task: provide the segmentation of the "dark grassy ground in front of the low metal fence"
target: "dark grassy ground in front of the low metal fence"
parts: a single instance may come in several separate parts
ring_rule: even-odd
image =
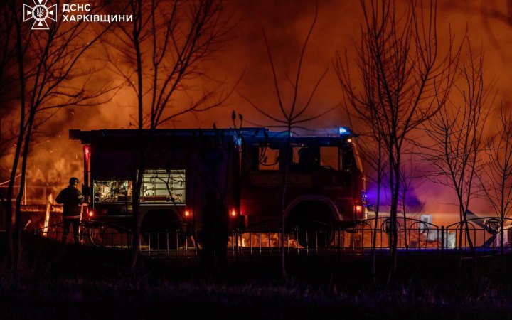
[[[0,235],[1,236],[1,235]],[[1,239],[4,245],[4,239]],[[5,252],[2,260],[5,260]],[[510,319],[512,257],[400,257],[385,289],[361,257],[230,260],[204,277],[198,260],[142,260],[118,250],[28,237],[21,277],[0,279],[0,319]]]

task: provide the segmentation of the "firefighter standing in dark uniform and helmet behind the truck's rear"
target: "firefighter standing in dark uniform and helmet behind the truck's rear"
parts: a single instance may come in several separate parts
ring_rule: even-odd
[[[70,225],[73,225],[73,240],[75,240],[75,243],[80,242],[78,228],[80,228],[80,213],[82,209],[81,204],[84,202],[84,197],[77,188],[78,182],[78,178],[70,178],[70,184],[68,188],[64,188],[62,191],[60,191],[57,198],[55,198],[55,201],[57,201],[57,203],[61,203],[64,205],[64,232],[62,239],[63,243],[65,243],[66,240],[68,240]]]

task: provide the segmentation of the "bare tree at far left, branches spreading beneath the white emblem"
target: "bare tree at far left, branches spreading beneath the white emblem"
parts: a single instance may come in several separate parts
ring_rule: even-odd
[[[11,253],[11,267],[16,275],[21,259],[21,205],[25,186],[27,160],[30,155],[31,139],[38,127],[44,124],[58,110],[70,106],[90,106],[104,102],[102,95],[109,87],[93,90],[90,77],[93,68],[80,65],[80,58],[85,55],[96,41],[107,30],[91,33],[87,23],[63,23],[56,21],[50,24],[48,32],[31,30],[31,23],[23,23],[18,1],[11,0],[7,4],[9,15],[13,21],[14,64],[17,72],[14,75],[19,91],[16,92],[16,109],[19,112],[18,135],[16,150],[11,166],[9,185],[6,191],[6,229],[8,246]],[[98,7],[97,10],[100,10]],[[86,38],[87,35],[87,38]],[[16,194],[16,210],[12,228],[11,215],[13,210],[14,183],[17,172],[20,172],[20,186]],[[14,241],[13,231],[16,231]]]

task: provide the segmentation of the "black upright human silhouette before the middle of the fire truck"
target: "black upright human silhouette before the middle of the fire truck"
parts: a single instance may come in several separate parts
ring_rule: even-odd
[[[206,192],[201,220],[201,264],[206,273],[217,274],[227,263],[229,215],[213,191]]]

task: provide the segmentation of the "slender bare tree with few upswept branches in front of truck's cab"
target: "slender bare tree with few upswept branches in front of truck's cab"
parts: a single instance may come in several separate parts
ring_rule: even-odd
[[[325,110],[323,112],[319,112],[318,114],[314,115],[308,115],[306,111],[309,110],[309,107],[311,106],[311,102],[314,98],[316,90],[318,90],[319,85],[321,84],[321,81],[324,79],[328,69],[324,70],[324,73],[321,74],[318,80],[316,80],[316,83],[311,90],[311,93],[309,94],[306,102],[304,105],[299,105],[299,85],[301,80],[301,73],[304,63],[304,55],[306,53],[306,48],[309,43],[309,38],[311,37],[311,33],[313,33],[314,26],[316,23],[316,18],[318,17],[318,4],[316,4],[315,7],[315,15],[313,22],[311,23],[311,26],[309,27],[309,31],[306,36],[306,40],[304,41],[304,44],[302,45],[302,50],[299,57],[299,62],[297,65],[296,75],[294,80],[287,79],[289,82],[289,85],[292,87],[292,99],[291,103],[289,105],[285,105],[284,97],[282,93],[282,89],[279,85],[279,80],[277,76],[277,69],[274,65],[274,60],[272,58],[272,50],[270,48],[270,43],[267,38],[267,34],[265,33],[265,30],[263,31],[263,37],[265,38],[265,46],[267,48],[267,55],[270,62],[270,68],[272,69],[272,77],[274,80],[274,89],[276,90],[276,97],[277,97],[277,105],[279,106],[280,114],[274,115],[270,112],[265,111],[262,107],[259,107],[254,102],[252,102],[249,98],[247,98],[245,95],[240,94],[245,101],[247,101],[252,107],[255,108],[258,112],[263,114],[267,119],[271,120],[275,124],[270,126],[277,129],[281,129],[286,134],[286,147],[285,147],[285,154],[284,154],[284,171],[283,171],[283,181],[282,181],[282,198],[281,198],[281,209],[282,209],[282,245],[284,246],[284,230],[286,230],[286,203],[287,203],[287,188],[288,188],[288,176],[289,176],[289,168],[291,166],[291,160],[292,160],[292,134],[294,130],[297,129],[305,129],[304,124],[307,122],[311,122],[314,119],[318,119],[319,117],[322,117],[324,114],[327,114],[334,110],[336,107],[331,107],[328,110]],[[286,260],[285,260],[285,250],[282,250],[282,276],[287,277],[287,268],[286,268]]]

